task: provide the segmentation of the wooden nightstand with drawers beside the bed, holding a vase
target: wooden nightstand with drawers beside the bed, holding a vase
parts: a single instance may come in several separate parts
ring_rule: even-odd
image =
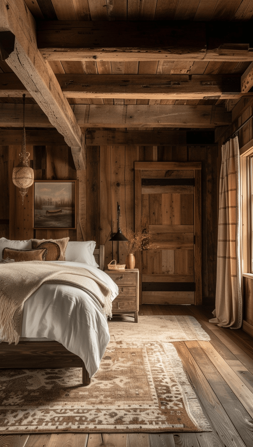
[[[138,323],[139,311],[139,270],[105,270],[119,287],[119,295],[112,301],[112,315],[134,313]]]

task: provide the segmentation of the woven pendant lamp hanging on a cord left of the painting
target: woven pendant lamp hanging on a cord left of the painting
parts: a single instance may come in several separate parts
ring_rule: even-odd
[[[23,94],[23,134],[21,143],[21,152],[19,153],[19,165],[13,168],[12,181],[15,186],[19,188],[22,196],[22,205],[24,204],[24,196],[28,191],[29,186],[32,186],[34,173],[33,169],[28,166],[29,152],[25,148],[25,94]]]

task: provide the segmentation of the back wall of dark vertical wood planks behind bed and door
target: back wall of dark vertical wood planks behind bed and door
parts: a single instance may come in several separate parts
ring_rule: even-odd
[[[12,183],[12,168],[18,164],[20,146],[0,146],[0,236],[10,239],[56,238],[95,240],[105,245],[105,265],[116,258],[117,244],[109,242],[117,231],[117,202],[121,228],[134,229],[134,161],[202,162],[202,284],[203,302],[214,302],[217,245],[217,146],[182,144],[167,146],[88,146],[87,171],[75,171],[67,146],[27,146],[37,180],[78,179],[77,230],[32,228],[32,188],[22,207],[21,195]],[[9,219],[9,225],[8,225]],[[120,262],[127,254],[120,243]],[[205,299],[207,298],[207,299]]]

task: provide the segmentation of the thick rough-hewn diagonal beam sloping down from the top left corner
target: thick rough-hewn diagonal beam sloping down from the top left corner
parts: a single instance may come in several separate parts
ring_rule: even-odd
[[[22,0],[0,0],[1,57],[71,147],[76,169],[85,169],[85,141],[48,62],[37,49],[36,24]],[[6,32],[15,36],[9,49]],[[5,52],[4,52],[5,51]]]

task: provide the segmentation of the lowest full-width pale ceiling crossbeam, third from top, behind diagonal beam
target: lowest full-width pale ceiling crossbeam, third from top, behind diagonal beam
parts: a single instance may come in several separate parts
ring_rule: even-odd
[[[80,127],[200,127],[231,123],[231,113],[215,105],[71,106]],[[21,104],[0,104],[0,127],[22,126]],[[38,105],[26,106],[27,127],[52,127]]]

